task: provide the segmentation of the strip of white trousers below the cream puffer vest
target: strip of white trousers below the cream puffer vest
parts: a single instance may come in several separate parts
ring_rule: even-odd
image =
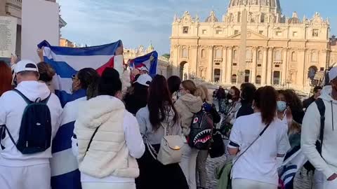
[[[82,189],[136,189],[135,183],[81,183]]]

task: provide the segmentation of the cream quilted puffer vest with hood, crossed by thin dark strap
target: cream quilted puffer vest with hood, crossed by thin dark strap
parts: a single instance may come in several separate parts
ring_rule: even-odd
[[[126,146],[124,113],[123,102],[114,97],[98,96],[81,104],[75,133],[79,147],[79,170],[82,173],[95,178],[139,176],[136,159],[129,155]],[[97,127],[98,132],[86,152]]]

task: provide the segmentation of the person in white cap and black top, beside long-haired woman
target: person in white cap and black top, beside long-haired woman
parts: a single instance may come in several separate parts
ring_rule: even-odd
[[[137,77],[137,80],[133,83],[131,89],[124,97],[126,110],[128,110],[128,112],[136,115],[141,108],[146,106],[147,93],[151,81],[151,76],[147,74],[139,75]]]

